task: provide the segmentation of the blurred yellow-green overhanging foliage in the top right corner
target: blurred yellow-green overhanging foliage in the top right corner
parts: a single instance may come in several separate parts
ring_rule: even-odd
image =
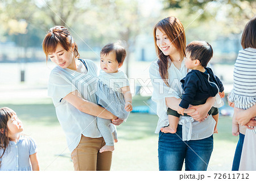
[[[245,23],[256,14],[255,0],[162,0],[165,9],[185,9],[185,15],[200,14],[196,19],[215,19],[225,34],[240,33]]]

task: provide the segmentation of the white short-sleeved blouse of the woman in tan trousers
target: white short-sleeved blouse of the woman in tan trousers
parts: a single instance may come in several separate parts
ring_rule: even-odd
[[[71,69],[56,66],[49,75],[48,95],[56,108],[57,119],[66,135],[69,150],[72,152],[79,145],[81,134],[86,137],[102,137],[97,128],[97,117],[79,111],[63,98],[77,90],[82,98],[97,104],[96,83],[97,66],[91,60],[84,60],[87,73],[79,73]],[[84,66],[79,60],[79,66]],[[86,72],[86,70],[85,70]],[[110,124],[112,132],[115,130]]]

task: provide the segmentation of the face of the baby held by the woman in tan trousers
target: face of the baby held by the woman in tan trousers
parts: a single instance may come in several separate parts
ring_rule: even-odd
[[[105,73],[117,73],[122,65],[117,62],[115,52],[111,51],[109,54],[101,54],[101,69]]]

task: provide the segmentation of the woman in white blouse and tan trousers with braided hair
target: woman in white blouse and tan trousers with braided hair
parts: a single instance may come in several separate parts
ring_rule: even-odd
[[[48,95],[66,135],[75,170],[110,170],[112,151],[99,153],[105,141],[98,131],[97,117],[113,119],[115,125],[123,120],[97,105],[96,65],[79,58],[77,45],[63,26],[49,30],[43,50],[57,65],[49,76]],[[110,129],[114,132],[114,125],[110,124]]]

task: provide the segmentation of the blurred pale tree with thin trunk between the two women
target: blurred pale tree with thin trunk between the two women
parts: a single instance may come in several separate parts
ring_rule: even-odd
[[[101,47],[117,40],[125,41],[126,74],[129,76],[131,52],[134,51],[137,36],[145,32],[150,32],[151,36],[158,15],[154,11],[143,14],[144,4],[137,0],[97,1],[95,5],[90,9],[90,19],[84,19],[84,23],[93,30],[89,34],[100,41]]]

